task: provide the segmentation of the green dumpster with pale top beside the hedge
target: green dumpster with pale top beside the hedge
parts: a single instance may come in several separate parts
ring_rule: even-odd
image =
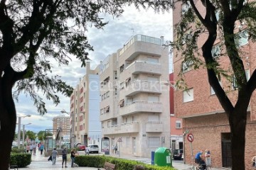
[[[171,150],[166,147],[159,147],[154,154],[154,164],[157,166],[172,166]]]

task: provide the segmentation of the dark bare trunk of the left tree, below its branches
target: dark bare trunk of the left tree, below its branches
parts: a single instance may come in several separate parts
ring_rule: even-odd
[[[0,77],[0,170],[9,169],[16,128],[16,110],[11,89],[12,85]]]

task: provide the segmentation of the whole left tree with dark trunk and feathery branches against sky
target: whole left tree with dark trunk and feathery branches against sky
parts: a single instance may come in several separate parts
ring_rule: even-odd
[[[124,1],[24,0],[0,4],[0,169],[8,169],[16,128],[14,98],[31,96],[38,113],[47,112],[38,91],[54,104],[57,93],[70,96],[72,87],[51,72],[51,61],[68,65],[70,55],[85,66],[87,26],[102,28],[100,12],[119,16]],[[13,91],[14,89],[14,91]]]

